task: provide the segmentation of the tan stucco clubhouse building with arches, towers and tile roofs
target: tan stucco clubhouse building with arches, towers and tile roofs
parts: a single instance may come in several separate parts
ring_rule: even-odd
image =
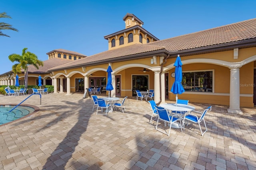
[[[175,100],[170,89],[173,64],[180,55],[185,89],[180,99],[228,105],[229,113],[256,104],[256,18],[163,40],[142,28],[144,23],[133,14],[123,20],[123,30],[104,36],[108,51],[87,57],[53,50],[41,71],[30,66],[28,84],[36,84],[40,74],[44,84],[54,85],[54,92],[69,95],[91,86],[104,90],[110,65],[111,96],[129,97],[136,95],[136,89],[154,89],[156,103],[165,102]],[[0,75],[0,85],[14,81],[11,71]]]

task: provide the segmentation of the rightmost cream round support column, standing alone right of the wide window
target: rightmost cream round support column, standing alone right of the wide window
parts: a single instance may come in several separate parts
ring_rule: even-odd
[[[228,113],[242,114],[240,110],[240,69],[230,68],[230,96]]]

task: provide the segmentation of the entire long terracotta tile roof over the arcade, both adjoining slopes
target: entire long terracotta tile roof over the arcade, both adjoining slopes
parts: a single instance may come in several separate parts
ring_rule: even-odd
[[[102,53],[72,61],[70,63],[63,65],[59,64],[59,66],[49,70],[78,67],[83,64],[97,63],[108,59],[118,59],[120,57],[128,57],[136,54],[159,51],[163,49],[168,51],[182,51],[200,47],[208,47],[212,45],[221,45],[247,39],[255,39],[256,41],[256,18],[207,29],[204,31],[198,31],[196,33],[154,41],[152,43],[134,44],[126,47],[120,47],[114,50],[104,51]]]

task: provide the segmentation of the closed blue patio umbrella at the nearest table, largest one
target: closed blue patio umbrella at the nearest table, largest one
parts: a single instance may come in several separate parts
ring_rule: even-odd
[[[171,92],[173,94],[176,94],[176,105],[177,105],[177,101],[178,101],[178,94],[182,94],[183,92],[185,92],[181,82],[182,82],[182,62],[180,60],[180,55],[178,55],[175,63],[175,80],[174,83],[172,85],[172,89]]]

